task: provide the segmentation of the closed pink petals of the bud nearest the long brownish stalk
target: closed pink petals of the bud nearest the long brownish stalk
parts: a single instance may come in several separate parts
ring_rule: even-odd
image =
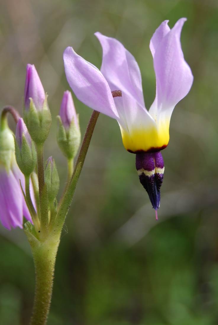
[[[69,129],[72,120],[74,120],[75,125],[79,127],[78,117],[73,103],[73,98],[71,92],[68,90],[64,92],[59,115],[61,117],[61,121],[65,129]]]

